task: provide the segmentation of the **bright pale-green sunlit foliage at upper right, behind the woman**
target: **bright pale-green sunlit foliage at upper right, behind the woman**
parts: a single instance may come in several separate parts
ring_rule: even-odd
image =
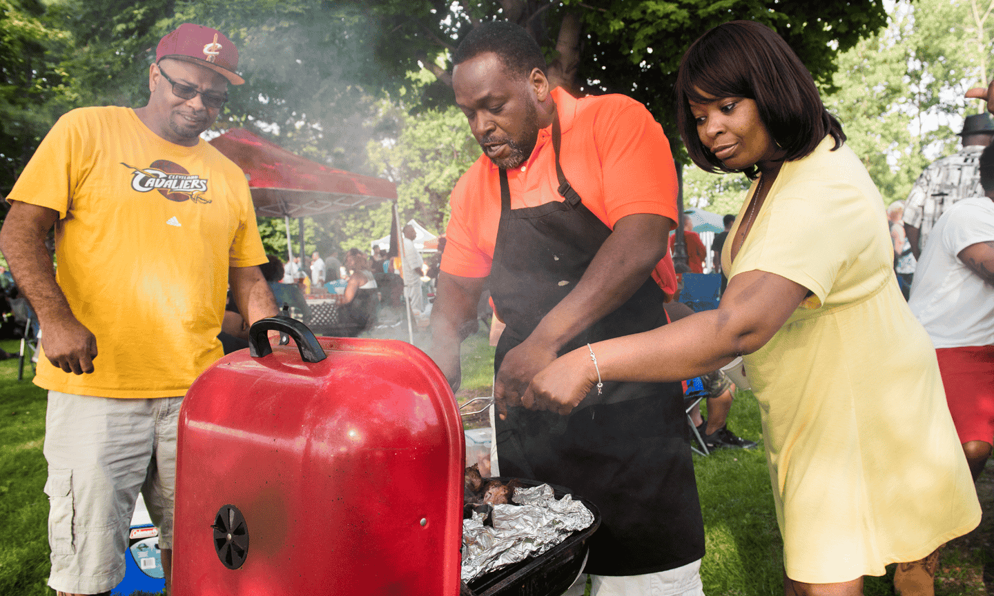
[[[949,123],[981,80],[968,13],[968,0],[901,2],[885,30],[839,56],[838,90],[825,104],[887,203],[905,199],[929,162],[958,149]]]

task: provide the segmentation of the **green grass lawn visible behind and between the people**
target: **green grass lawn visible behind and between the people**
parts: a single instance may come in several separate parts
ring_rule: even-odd
[[[491,383],[493,349],[485,329],[463,345],[464,391],[486,393]],[[16,352],[16,343],[0,342]],[[28,369],[30,375],[30,367]],[[17,361],[0,362],[0,595],[48,596],[48,501],[42,493],[46,465],[42,456],[45,392],[29,381],[17,381]],[[741,391],[729,426],[747,439],[760,441],[759,407]],[[779,595],[782,588],[782,543],[776,527],[769,474],[761,449],[717,451],[694,456],[707,555],[701,566],[705,593]],[[938,596],[986,594],[985,561],[991,565],[990,530],[994,464],[981,478],[985,522],[981,529],[945,547],[937,574]],[[985,558],[986,557],[986,558]],[[893,595],[890,576],[867,578],[868,596]]]

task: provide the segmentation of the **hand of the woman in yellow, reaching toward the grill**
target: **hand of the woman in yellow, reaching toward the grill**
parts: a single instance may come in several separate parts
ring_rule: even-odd
[[[535,375],[521,398],[528,409],[567,415],[597,384],[597,371],[586,346],[555,361]]]

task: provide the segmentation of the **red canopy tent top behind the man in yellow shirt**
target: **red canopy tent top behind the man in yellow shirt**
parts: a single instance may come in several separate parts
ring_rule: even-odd
[[[304,218],[397,199],[389,180],[335,170],[234,128],[210,141],[248,178],[255,214]]]

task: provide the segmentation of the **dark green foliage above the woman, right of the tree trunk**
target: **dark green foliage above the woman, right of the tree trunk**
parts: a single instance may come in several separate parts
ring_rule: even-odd
[[[885,24],[882,0],[564,0],[582,14],[582,90],[618,92],[642,101],[676,138],[673,89],[680,60],[694,40],[721,23],[768,25],[797,52],[815,79],[830,86],[835,58]],[[682,145],[674,143],[675,152]]]

